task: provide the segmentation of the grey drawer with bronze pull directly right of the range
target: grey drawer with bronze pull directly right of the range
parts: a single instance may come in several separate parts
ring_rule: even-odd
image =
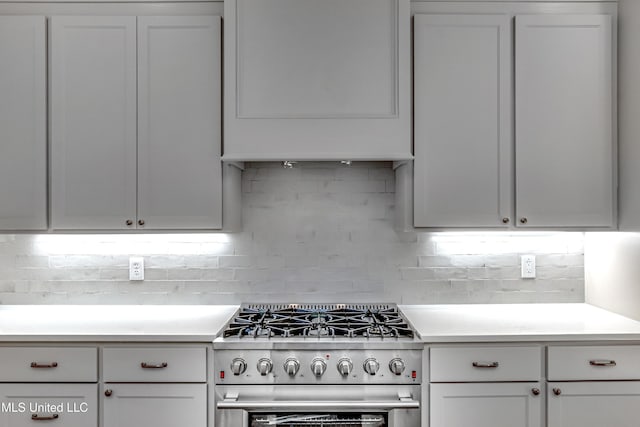
[[[431,382],[538,381],[542,349],[527,347],[436,347]]]

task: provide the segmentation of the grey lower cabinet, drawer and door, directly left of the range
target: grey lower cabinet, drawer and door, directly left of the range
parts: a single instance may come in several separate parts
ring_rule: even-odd
[[[207,348],[102,349],[102,427],[206,427]]]

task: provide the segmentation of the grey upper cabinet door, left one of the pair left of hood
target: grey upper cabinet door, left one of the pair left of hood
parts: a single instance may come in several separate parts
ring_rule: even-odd
[[[136,216],[136,18],[51,18],[54,229]],[[132,223],[133,224],[133,223]]]

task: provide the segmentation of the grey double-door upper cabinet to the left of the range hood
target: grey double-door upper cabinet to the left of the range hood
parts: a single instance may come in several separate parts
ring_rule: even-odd
[[[53,229],[222,226],[217,16],[53,17]]]

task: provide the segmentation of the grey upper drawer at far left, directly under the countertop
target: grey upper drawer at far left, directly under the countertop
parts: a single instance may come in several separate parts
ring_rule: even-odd
[[[95,382],[95,347],[0,347],[1,382]]]

